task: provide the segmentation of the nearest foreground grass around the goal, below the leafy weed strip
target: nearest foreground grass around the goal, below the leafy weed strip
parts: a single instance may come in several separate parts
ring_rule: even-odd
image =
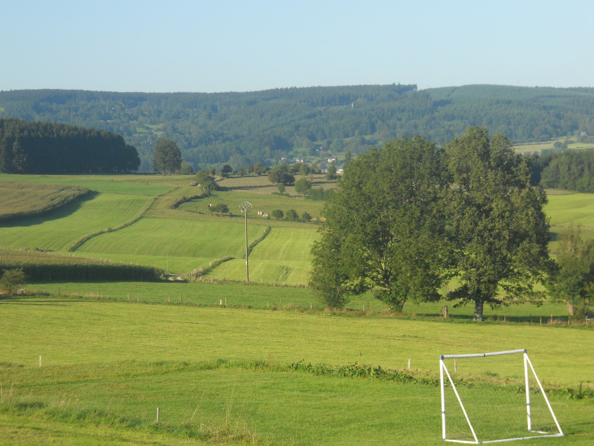
[[[60,416],[68,419],[83,414],[87,418],[80,416],[80,421],[71,423],[71,430],[63,437],[74,442],[77,436],[94,434],[90,438],[101,441],[105,433],[94,432],[93,427],[118,417],[119,423],[112,421],[102,430],[130,444],[138,444],[141,439],[143,444],[187,444],[188,432],[200,432],[200,426],[204,426],[201,430],[210,434],[225,425],[229,425],[229,433],[241,432],[245,426],[255,431],[255,437],[264,444],[442,443],[439,387],[245,369],[224,361],[219,364],[220,368],[216,363],[132,361],[41,368],[12,366],[0,370],[0,380],[18,381],[13,404],[46,407],[15,411],[10,418],[0,418],[0,426],[17,425],[6,432],[14,435],[42,426],[47,419],[57,419],[48,426],[49,432],[38,432],[37,438],[58,436],[55,430],[65,429]],[[555,440],[555,444],[585,445],[592,441],[591,401],[553,396],[551,403],[569,434]],[[156,407],[160,409],[158,427],[154,423]],[[147,438],[147,432],[154,434]],[[159,435],[162,432],[169,435]],[[0,427],[0,436],[3,434]],[[194,439],[190,442],[203,444]],[[228,438],[214,442],[227,444]],[[550,440],[534,439],[530,444],[550,444]]]

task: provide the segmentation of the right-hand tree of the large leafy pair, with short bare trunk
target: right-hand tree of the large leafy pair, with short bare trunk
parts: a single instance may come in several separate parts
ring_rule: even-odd
[[[548,256],[546,194],[530,186],[531,172],[511,141],[469,127],[445,147],[451,199],[445,209],[454,241],[459,287],[447,297],[472,302],[476,321],[484,304],[539,303],[534,285],[554,268]]]

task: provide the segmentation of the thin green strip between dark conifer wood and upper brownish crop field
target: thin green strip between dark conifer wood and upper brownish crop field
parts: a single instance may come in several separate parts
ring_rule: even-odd
[[[0,174],[0,180],[18,180],[31,181],[37,183],[53,183],[53,184],[74,184],[75,186],[84,186],[87,189],[103,193],[121,193],[132,195],[150,195],[166,193],[173,189],[173,186],[168,184],[149,184],[146,183],[132,183],[131,181],[123,181],[135,178],[136,181],[142,177],[134,177],[126,175],[15,175],[15,174]],[[147,178],[147,180],[149,180]]]

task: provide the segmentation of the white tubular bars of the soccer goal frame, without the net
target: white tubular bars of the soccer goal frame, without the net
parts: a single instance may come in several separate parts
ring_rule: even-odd
[[[545,398],[546,406],[548,407],[549,412],[551,412],[551,416],[553,417],[553,420],[555,421],[555,425],[557,426],[557,429],[559,432],[558,432],[558,434],[520,436],[517,438],[504,438],[504,439],[498,439],[498,440],[479,441],[478,437],[475,434],[475,429],[472,427],[472,423],[470,423],[470,419],[468,417],[468,414],[466,413],[464,404],[462,403],[462,400],[460,399],[460,395],[458,394],[456,385],[454,384],[454,380],[451,379],[450,372],[448,372],[448,369],[445,366],[445,363],[443,360],[444,359],[457,359],[457,358],[476,358],[476,357],[485,357],[485,356],[499,356],[501,354],[514,354],[514,353],[522,353],[523,359],[524,359],[524,377],[525,377],[525,387],[526,387],[526,413],[527,413],[528,431],[529,432],[538,432],[539,434],[548,434],[547,432],[532,431],[532,419],[531,419],[531,415],[530,415],[530,382],[529,382],[529,371],[528,371],[528,366],[530,366],[530,369],[532,369],[532,374],[534,375],[534,378],[536,379],[536,382],[538,383],[538,387],[540,388],[540,390],[542,392],[542,396]],[[456,394],[458,403],[460,404],[460,407],[462,408],[462,412],[464,413],[464,416],[466,417],[466,422],[468,423],[468,426],[470,428],[470,431],[472,432],[472,436],[475,438],[475,441],[456,440],[456,439],[445,438],[447,433],[446,433],[446,429],[445,429],[444,371],[445,371],[445,375],[447,375],[448,381],[450,381],[452,389],[454,390],[454,394]],[[547,437],[564,436],[563,431],[561,430],[561,426],[559,425],[559,422],[557,421],[557,417],[555,416],[555,413],[553,412],[553,409],[551,407],[551,403],[549,403],[549,398],[546,397],[546,393],[545,393],[544,388],[542,387],[541,380],[538,378],[538,375],[536,375],[536,370],[532,366],[532,362],[530,362],[530,358],[528,357],[528,354],[526,353],[526,348],[522,348],[520,350],[494,351],[492,353],[442,354],[442,355],[440,355],[440,384],[441,384],[441,434],[442,434],[442,438],[444,439],[444,441],[451,441],[454,443],[466,443],[466,444],[486,444],[486,443],[500,443],[500,442],[504,442],[504,441],[527,440],[527,439],[532,439],[532,438],[547,438]]]

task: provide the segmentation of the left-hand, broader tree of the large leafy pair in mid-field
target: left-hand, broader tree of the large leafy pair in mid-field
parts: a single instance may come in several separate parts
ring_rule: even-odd
[[[449,278],[440,149],[424,137],[387,142],[349,162],[324,206],[310,284],[331,307],[372,291],[391,310],[439,300]]]

